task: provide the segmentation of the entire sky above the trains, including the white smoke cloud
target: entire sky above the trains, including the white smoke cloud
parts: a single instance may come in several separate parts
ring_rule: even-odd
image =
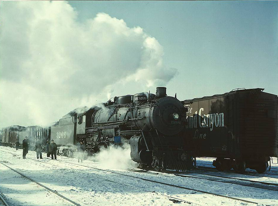
[[[0,1],[0,128],[166,86],[278,94],[277,1]]]

